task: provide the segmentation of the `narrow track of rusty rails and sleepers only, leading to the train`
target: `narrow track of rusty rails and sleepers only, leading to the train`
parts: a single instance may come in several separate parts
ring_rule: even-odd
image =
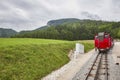
[[[99,53],[89,69],[85,80],[108,80],[107,54]]]

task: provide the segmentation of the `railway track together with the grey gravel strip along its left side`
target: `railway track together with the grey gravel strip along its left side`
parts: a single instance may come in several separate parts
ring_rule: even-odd
[[[92,64],[76,74],[72,80],[109,80],[108,54],[98,53],[93,58]]]

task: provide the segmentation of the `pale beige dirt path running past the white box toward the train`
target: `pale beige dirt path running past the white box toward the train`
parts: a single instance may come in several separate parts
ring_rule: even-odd
[[[87,54],[80,54],[75,60],[74,66],[70,67],[63,75],[59,76],[57,80],[72,80],[75,74],[81,69],[81,67],[88,61],[92,56],[94,50]]]

